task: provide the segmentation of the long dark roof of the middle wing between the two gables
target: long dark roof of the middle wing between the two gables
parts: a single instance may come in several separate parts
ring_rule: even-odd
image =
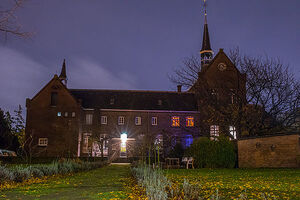
[[[84,108],[197,111],[192,93],[142,90],[69,89]]]

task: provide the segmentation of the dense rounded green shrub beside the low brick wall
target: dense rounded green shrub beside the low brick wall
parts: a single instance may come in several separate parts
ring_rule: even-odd
[[[226,137],[219,137],[218,140],[199,138],[186,154],[195,159],[198,168],[233,168],[236,162],[235,146]]]

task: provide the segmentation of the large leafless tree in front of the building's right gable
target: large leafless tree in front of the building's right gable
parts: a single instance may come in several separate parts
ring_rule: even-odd
[[[240,72],[247,75],[246,99],[242,91],[220,84],[222,88],[216,92],[207,86],[206,80],[198,80],[201,64],[196,57],[186,58],[170,80],[187,88],[198,81],[196,94],[203,106],[199,107],[203,108],[205,122],[233,124],[240,133],[250,135],[290,129],[300,107],[300,81],[289,66],[280,59],[242,55],[238,48],[231,50],[229,57]],[[230,93],[235,97],[234,104],[216,99]]]

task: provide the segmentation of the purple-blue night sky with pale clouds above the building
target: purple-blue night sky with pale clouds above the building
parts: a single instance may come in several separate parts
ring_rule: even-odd
[[[25,105],[66,59],[69,88],[175,90],[168,79],[199,56],[201,0],[27,0],[31,39],[0,38],[0,107]],[[300,77],[299,0],[208,0],[212,48],[279,57]]]

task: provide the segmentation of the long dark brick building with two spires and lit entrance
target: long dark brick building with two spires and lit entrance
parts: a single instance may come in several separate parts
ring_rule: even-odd
[[[70,89],[64,61],[61,74],[26,100],[28,148],[33,156],[105,156],[113,160],[139,156],[149,142],[159,143],[166,152],[178,142],[186,148],[197,137],[218,136],[218,124],[203,128],[197,86],[207,80],[214,92],[220,85],[244,91],[245,75],[223,49],[213,56],[206,15],[200,56],[198,81],[188,91],[181,91],[181,86],[177,91]],[[231,94],[221,100],[228,99],[233,103]],[[236,129],[230,127],[227,131],[236,139]]]

